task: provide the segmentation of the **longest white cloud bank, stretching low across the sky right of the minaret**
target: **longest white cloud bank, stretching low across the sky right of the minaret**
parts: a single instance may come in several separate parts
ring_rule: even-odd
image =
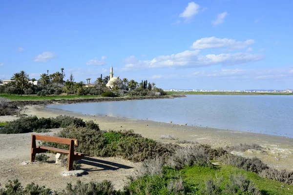
[[[140,60],[131,56],[124,60],[124,70],[140,68],[186,68],[186,67],[203,67],[211,65],[236,65],[254,62],[264,59],[262,54],[249,53],[228,53],[228,54],[209,54],[200,55],[199,50],[184,51],[169,56],[159,56],[152,60]]]

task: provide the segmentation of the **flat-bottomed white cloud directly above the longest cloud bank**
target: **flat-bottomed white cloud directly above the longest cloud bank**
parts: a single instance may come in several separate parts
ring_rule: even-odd
[[[220,39],[216,37],[208,37],[197,39],[193,42],[191,49],[208,49],[208,48],[219,48],[224,47],[230,50],[233,49],[244,49],[249,45],[253,44],[253,39],[247,39],[246,41],[236,41],[235,39]]]

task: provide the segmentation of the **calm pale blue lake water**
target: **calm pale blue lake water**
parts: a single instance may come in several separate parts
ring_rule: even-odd
[[[50,105],[89,115],[293,137],[293,96],[189,95],[186,98]]]

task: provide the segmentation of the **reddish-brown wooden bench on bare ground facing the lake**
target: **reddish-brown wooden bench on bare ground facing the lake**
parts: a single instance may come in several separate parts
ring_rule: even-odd
[[[48,146],[37,146],[36,140],[67,144],[67,145],[69,145],[69,150],[53,148],[53,147],[48,147]],[[74,160],[80,160],[80,159],[83,159],[84,156],[89,156],[84,153],[74,152],[74,146],[78,146],[77,139],[41,136],[41,135],[32,134],[31,162],[35,161],[36,154],[38,154],[38,153],[45,153],[47,151],[55,151],[58,153],[65,153],[65,154],[68,154],[68,158],[67,158],[68,168],[67,168],[67,170],[70,171],[70,170],[72,170],[72,164],[73,164]]]

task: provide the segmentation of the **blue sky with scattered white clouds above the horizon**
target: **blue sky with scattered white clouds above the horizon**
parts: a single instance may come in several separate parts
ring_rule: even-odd
[[[293,1],[2,1],[0,79],[64,68],[163,89],[293,88]]]

